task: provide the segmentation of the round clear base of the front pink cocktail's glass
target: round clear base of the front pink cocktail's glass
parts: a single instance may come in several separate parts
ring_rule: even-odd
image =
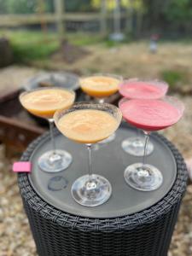
[[[124,172],[125,182],[133,189],[153,191],[163,183],[162,173],[154,166],[143,163],[127,166]]]

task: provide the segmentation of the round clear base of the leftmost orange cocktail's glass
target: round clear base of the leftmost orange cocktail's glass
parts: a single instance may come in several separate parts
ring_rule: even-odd
[[[61,172],[72,163],[72,155],[64,150],[50,150],[38,159],[38,166],[44,172]]]

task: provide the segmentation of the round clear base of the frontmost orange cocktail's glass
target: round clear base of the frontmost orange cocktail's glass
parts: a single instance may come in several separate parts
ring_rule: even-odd
[[[112,194],[108,179],[97,174],[84,175],[76,179],[72,185],[72,196],[75,201],[85,207],[96,207],[108,201]]]

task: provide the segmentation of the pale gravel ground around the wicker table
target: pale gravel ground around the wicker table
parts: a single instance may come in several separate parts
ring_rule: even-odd
[[[16,72],[15,72],[16,71]],[[20,71],[18,67],[4,69],[0,74],[1,82],[8,79],[18,86],[18,81],[31,76],[37,70]],[[13,73],[16,73],[15,79]],[[22,76],[22,79],[19,77]],[[16,82],[15,82],[16,81]],[[185,103],[185,114],[183,119],[172,128],[162,133],[188,159],[192,158],[192,101],[190,96],[182,98]],[[26,215],[23,212],[16,176],[11,172],[14,159],[6,159],[4,147],[0,145],[0,256],[35,256],[36,248],[32,240],[32,234]],[[192,255],[192,185],[190,184],[183,199],[183,204],[177,221],[177,226],[172,237],[172,244],[168,256],[191,256]],[[142,256],[142,255],[141,255]]]

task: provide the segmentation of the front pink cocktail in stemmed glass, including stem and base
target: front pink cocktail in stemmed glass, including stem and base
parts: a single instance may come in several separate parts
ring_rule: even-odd
[[[126,167],[125,182],[137,190],[158,189],[163,183],[162,173],[156,166],[146,164],[149,135],[151,131],[160,131],[176,124],[183,116],[183,103],[171,96],[160,100],[128,100],[124,98],[119,102],[119,108],[125,120],[131,125],[143,129],[145,134],[143,161]]]

